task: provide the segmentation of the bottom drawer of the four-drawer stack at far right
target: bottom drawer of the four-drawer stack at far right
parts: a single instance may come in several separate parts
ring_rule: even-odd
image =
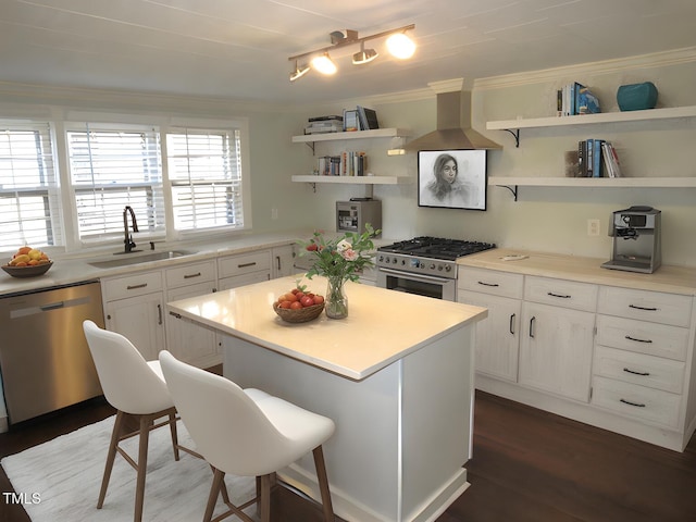
[[[679,425],[681,395],[660,389],[594,377],[592,403],[622,415],[666,426]]]

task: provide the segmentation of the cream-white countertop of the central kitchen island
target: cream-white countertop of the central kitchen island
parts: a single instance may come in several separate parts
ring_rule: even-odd
[[[325,295],[323,277],[302,284]],[[189,320],[356,381],[488,313],[348,282],[348,318],[332,320],[322,312],[307,323],[286,323],[273,311],[273,301],[295,285],[295,276],[282,277],[167,306]]]

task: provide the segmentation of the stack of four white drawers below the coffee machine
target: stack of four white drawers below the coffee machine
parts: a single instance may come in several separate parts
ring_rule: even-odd
[[[592,403],[671,428],[684,423],[688,296],[602,287]]]

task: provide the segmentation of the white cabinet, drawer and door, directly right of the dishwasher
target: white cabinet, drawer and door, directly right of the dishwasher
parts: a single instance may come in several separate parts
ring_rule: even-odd
[[[161,271],[104,278],[101,293],[107,328],[127,337],[145,359],[157,359],[165,344]]]

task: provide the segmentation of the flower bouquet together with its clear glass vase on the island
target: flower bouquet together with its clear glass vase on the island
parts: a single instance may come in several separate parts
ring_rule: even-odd
[[[380,231],[366,223],[365,232],[362,234],[348,232],[343,237],[326,240],[321,232],[315,232],[309,243],[299,241],[300,246],[304,247],[300,256],[314,256],[314,264],[307,272],[307,278],[323,275],[328,279],[324,308],[328,318],[348,316],[348,299],[344,294],[344,283],[358,281],[360,272],[374,264],[372,238],[378,233]]]

